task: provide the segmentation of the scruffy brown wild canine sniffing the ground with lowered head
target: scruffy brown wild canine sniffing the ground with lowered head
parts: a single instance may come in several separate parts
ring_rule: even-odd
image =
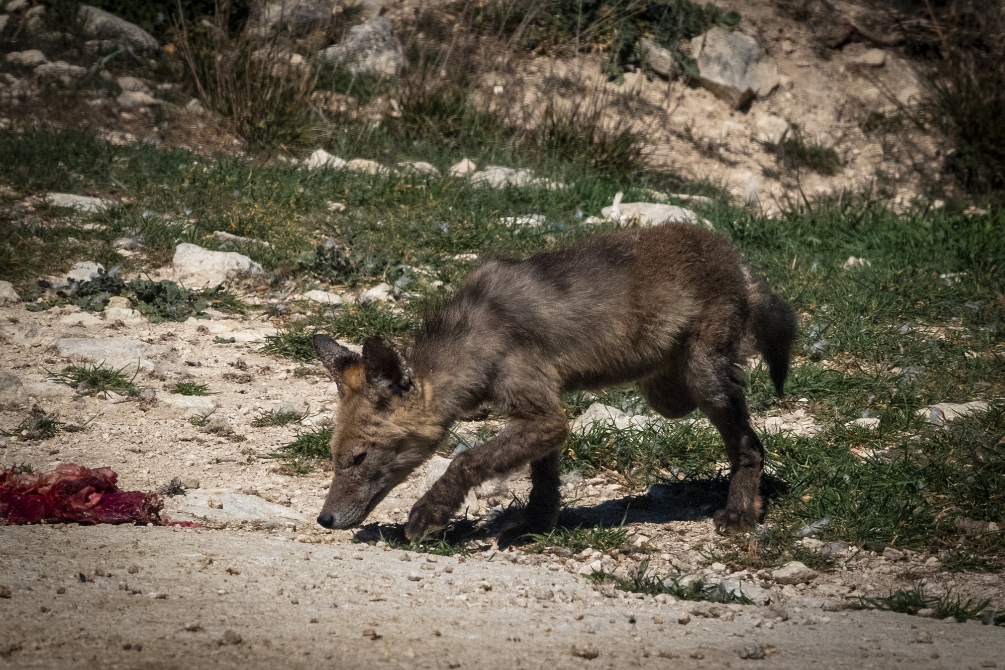
[[[653,409],[700,409],[732,464],[722,531],[760,514],[763,448],[750,427],[740,367],[754,349],[782,393],[796,334],[792,310],[752,278],[723,236],[690,224],[598,235],[526,261],[489,261],[416,328],[402,358],[379,338],[363,355],[315,338],[342,402],[335,477],[318,522],[348,528],[428,459],[481,404],[509,416],[494,438],[453,459],[416,502],[409,538],[442,528],[477,484],[531,464],[520,532],[559,515],[562,392],[635,381]]]

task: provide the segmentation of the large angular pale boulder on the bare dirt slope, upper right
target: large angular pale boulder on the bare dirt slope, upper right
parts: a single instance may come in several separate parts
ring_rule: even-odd
[[[715,26],[691,39],[698,83],[739,109],[778,86],[778,64],[756,39]]]

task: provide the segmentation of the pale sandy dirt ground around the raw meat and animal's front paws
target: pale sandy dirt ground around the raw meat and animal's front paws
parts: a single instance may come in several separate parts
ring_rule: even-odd
[[[1005,657],[1001,628],[842,609],[847,598],[886,595],[920,579],[931,593],[991,598],[1000,610],[998,575],[949,573],[931,556],[890,559],[854,548],[809,583],[779,584],[771,570],[731,574],[702,554],[716,539],[710,516],[722,492],[693,484],[647,494],[613,474],[567,478],[564,494],[576,500],[567,520],[624,518],[644,552],[499,550],[492,519],[512,493],[526,490],[521,474],[478,490],[469,512],[482,530],[467,556],[432,562],[354,542],[351,532],[310,521],[327,492],[326,473],[284,474],[261,458],[297,429],[252,427],[262,410],[309,406],[306,423],[319,425],[338,399],[327,377],[296,376],[295,364],[256,353],[273,332],[269,323],[107,316],[0,308],[0,369],[20,377],[28,395],[20,409],[0,411],[0,427],[16,426],[32,403],[67,424],[93,418],[82,433],[2,438],[0,462],[35,470],[61,462],[109,466],[124,490],[152,491],[179,478],[198,482],[196,491],[260,496],[304,520],[255,528],[0,528],[0,584],[10,590],[0,598],[0,667],[978,668]],[[68,337],[146,344],[136,383],[155,389],[156,401],[77,395],[46,381],[47,370],[79,362],[58,354],[57,341]],[[109,362],[131,364],[121,358]],[[168,392],[180,380],[208,384],[214,394],[193,401],[216,405],[214,415],[235,435],[193,426],[188,417],[203,409],[180,406],[180,396]],[[423,478],[420,471],[392,492],[357,539],[377,540],[388,524],[404,521]],[[638,597],[595,588],[582,575],[597,561],[632,574],[643,558],[659,574],[748,580],[770,591],[774,605]]]

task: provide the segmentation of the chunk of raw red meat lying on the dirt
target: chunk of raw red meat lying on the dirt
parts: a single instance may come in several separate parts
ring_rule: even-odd
[[[153,493],[120,491],[110,468],[62,463],[44,473],[0,471],[0,519],[8,524],[155,523],[163,503]]]

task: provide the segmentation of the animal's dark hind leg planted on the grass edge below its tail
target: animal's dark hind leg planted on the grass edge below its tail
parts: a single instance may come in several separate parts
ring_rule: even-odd
[[[721,351],[692,351],[687,383],[698,409],[719,429],[732,473],[726,509],[716,512],[721,532],[752,530],[761,513],[764,447],[750,425],[743,370]]]

